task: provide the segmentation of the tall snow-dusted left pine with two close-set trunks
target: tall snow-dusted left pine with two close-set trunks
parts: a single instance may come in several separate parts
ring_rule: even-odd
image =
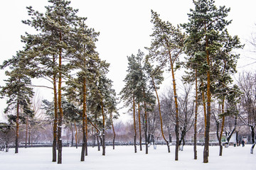
[[[85,18],[77,16],[78,10],[69,6],[70,1],[49,0],[49,2],[51,5],[46,6],[45,14],[34,11],[31,6],[28,7],[28,15],[31,16],[31,20],[23,21],[23,23],[35,28],[40,33],[38,35],[26,33],[22,39],[26,43],[26,49],[28,49],[28,58],[33,60],[31,68],[38,73],[38,77],[49,77],[53,81],[55,101],[53,162],[56,162],[56,139],[58,139],[58,164],[61,164],[61,125],[63,122],[63,109],[61,106],[62,81],[66,73],[70,69],[73,69],[70,64],[64,65],[63,60],[74,57],[75,48],[73,47],[73,38],[75,35],[75,26],[78,25],[78,21],[85,20]]]

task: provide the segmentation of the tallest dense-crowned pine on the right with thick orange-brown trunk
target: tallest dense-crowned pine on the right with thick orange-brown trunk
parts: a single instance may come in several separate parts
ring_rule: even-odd
[[[206,81],[206,96],[207,96],[207,108],[206,108],[206,131],[205,131],[205,147],[203,151],[203,162],[208,163],[208,146],[209,146],[209,132],[210,132],[210,101],[212,98],[212,91],[214,89],[213,82],[215,82],[220,76],[220,68],[223,69],[223,63],[225,58],[230,57],[228,53],[225,53],[226,57],[220,55],[220,51],[233,50],[239,47],[238,38],[235,40],[235,45],[232,47],[226,47],[223,42],[227,31],[225,30],[231,21],[226,21],[230,8],[220,6],[217,8],[213,0],[198,0],[193,1],[195,9],[191,9],[191,13],[188,13],[189,23],[183,24],[183,28],[186,28],[188,33],[187,43],[188,47],[193,48],[193,56],[195,57],[196,66],[198,67],[198,75],[205,75],[206,79],[201,79],[201,85]],[[228,42],[229,43],[229,42]],[[232,44],[233,42],[231,42]],[[224,53],[223,53],[224,54]],[[230,60],[233,63],[229,63],[228,67],[235,67],[235,60],[237,56],[231,56]],[[218,65],[220,64],[220,65]],[[204,91],[202,91],[204,94]],[[204,102],[204,97],[203,97]]]

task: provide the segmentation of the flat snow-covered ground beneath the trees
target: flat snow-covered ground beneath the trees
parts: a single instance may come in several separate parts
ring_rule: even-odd
[[[209,163],[203,164],[203,147],[198,146],[198,159],[193,159],[193,146],[185,146],[183,152],[179,152],[179,160],[174,161],[174,146],[171,146],[171,153],[167,153],[166,146],[149,147],[149,154],[143,151],[134,153],[132,146],[118,146],[116,149],[107,147],[106,156],[98,152],[97,148],[89,147],[88,156],[85,162],[80,162],[81,148],[63,148],[63,164],[51,162],[52,148],[20,148],[18,154],[14,149],[9,152],[0,152],[0,169],[18,170],[45,170],[45,169],[89,169],[89,170],[255,170],[256,154],[250,154],[250,145],[245,147],[223,148],[223,156],[218,156],[219,147],[210,147]],[[139,147],[137,147],[139,149]],[[255,150],[256,152],[256,150]]]

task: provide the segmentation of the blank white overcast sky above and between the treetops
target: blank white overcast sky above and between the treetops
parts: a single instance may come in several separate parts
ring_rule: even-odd
[[[215,0],[217,6],[231,8],[228,18],[233,20],[229,26],[231,35],[238,35],[243,43],[250,40],[251,33],[256,33],[256,1],[255,0]],[[1,1],[0,10],[0,63],[16,55],[23,44],[20,36],[25,32],[33,33],[33,29],[21,23],[28,19],[26,6],[33,6],[35,10],[44,11],[48,5],[47,0],[8,0]],[[97,51],[103,60],[110,62],[109,78],[114,81],[117,93],[124,86],[123,79],[127,74],[127,55],[137,54],[139,49],[149,47],[152,33],[151,9],[159,13],[161,18],[174,25],[186,23],[187,13],[193,8],[192,0],[71,0],[73,8],[79,8],[78,15],[87,17],[87,26],[100,32],[97,42]],[[238,63],[239,71],[252,60],[248,58],[249,47],[242,50]],[[252,66],[252,65],[251,65]],[[254,65],[253,65],[254,66]],[[252,67],[250,67],[252,68]],[[4,86],[4,72],[0,71],[0,85]],[[43,82],[43,81],[41,81]],[[171,86],[171,79],[166,79],[164,84]],[[46,92],[47,91],[47,92]],[[51,91],[43,89],[43,96]],[[48,98],[50,100],[50,98]],[[4,110],[4,100],[0,103],[1,113]]]

